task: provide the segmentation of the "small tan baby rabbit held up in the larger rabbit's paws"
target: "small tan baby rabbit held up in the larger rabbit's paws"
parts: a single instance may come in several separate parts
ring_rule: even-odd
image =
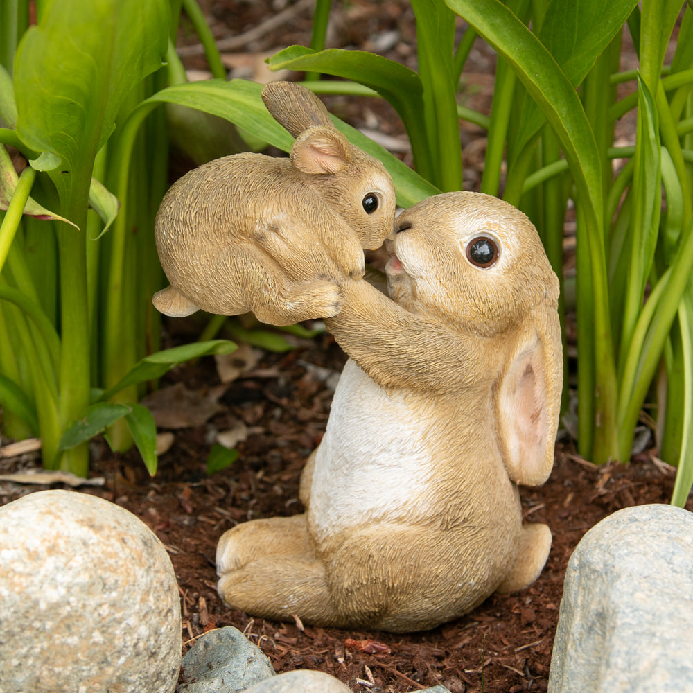
[[[319,98],[292,82],[272,82],[262,98],[296,137],[290,158],[223,157],[171,186],[155,222],[170,281],[152,299],[161,313],[252,311],[274,325],[335,315],[335,277],[361,277],[362,249],[392,231],[392,179],[334,127]]]

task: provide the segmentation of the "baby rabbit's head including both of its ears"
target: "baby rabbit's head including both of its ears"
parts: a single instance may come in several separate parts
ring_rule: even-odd
[[[362,247],[380,247],[392,232],[396,207],[385,166],[349,143],[322,101],[305,87],[270,82],[262,98],[272,117],[296,138],[293,166],[310,177],[310,185],[349,223]]]

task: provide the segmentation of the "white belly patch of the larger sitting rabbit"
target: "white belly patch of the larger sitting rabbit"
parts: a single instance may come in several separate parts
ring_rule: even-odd
[[[417,398],[388,394],[351,359],[315,455],[308,518],[321,542],[344,527],[414,520],[426,511],[432,417]]]

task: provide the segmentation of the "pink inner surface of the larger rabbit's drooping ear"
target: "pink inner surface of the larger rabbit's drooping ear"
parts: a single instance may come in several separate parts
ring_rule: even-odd
[[[509,477],[518,484],[543,484],[551,472],[555,431],[547,407],[553,397],[544,350],[534,333],[516,351],[498,398],[501,452]]]

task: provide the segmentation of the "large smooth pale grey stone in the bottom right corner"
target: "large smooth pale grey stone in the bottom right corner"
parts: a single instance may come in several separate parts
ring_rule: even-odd
[[[693,693],[693,514],[617,511],[565,576],[550,693]]]

